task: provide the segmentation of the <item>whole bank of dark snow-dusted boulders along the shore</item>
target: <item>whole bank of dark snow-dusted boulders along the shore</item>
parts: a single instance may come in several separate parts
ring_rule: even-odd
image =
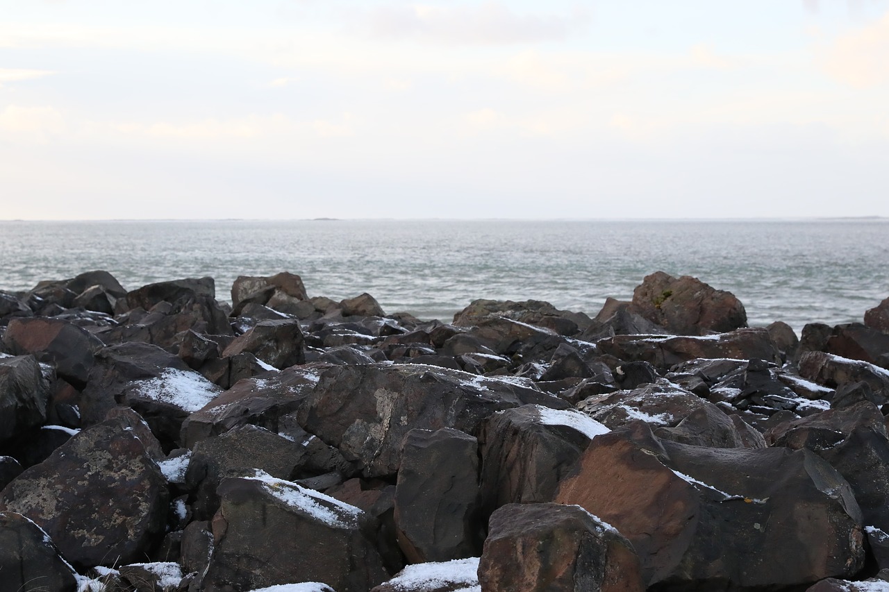
[[[889,298],[0,292],[0,592],[889,590]]]

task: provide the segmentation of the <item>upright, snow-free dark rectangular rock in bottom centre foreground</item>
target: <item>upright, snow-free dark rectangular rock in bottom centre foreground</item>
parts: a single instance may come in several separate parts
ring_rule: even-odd
[[[395,524],[408,562],[477,556],[483,538],[477,498],[475,437],[450,428],[412,429],[404,436]]]

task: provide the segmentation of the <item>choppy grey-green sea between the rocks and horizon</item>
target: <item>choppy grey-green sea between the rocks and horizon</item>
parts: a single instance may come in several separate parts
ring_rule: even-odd
[[[0,290],[105,269],[132,290],[299,274],[309,296],[370,292],[387,312],[450,320],[478,298],[595,316],[657,270],[733,292],[749,324],[861,322],[889,296],[889,220],[0,221]]]

